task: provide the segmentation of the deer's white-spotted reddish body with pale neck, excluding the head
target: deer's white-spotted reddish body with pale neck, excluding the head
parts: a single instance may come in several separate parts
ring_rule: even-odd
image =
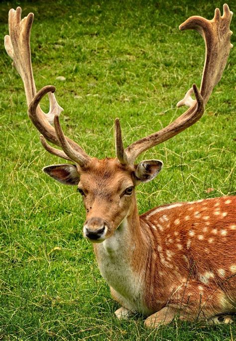
[[[145,316],[166,306],[193,320],[236,312],[235,208],[223,197],[131,214],[94,244],[113,297]]]

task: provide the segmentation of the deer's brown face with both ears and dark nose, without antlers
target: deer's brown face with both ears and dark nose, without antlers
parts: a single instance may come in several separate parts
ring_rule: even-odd
[[[118,159],[92,158],[84,166],[56,165],[43,170],[54,179],[76,185],[86,209],[83,233],[92,242],[102,242],[113,235],[135,205],[135,186],[148,182],[161,170],[159,160],[145,160],[138,165],[121,165]]]

